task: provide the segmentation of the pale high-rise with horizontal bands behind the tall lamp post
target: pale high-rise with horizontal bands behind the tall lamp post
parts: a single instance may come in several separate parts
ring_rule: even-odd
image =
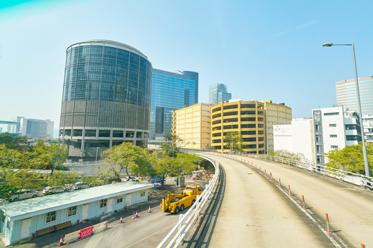
[[[373,76],[358,79],[358,90],[361,101],[361,114],[373,115]],[[358,113],[355,79],[336,82],[336,100],[338,106],[343,106],[347,112]]]

